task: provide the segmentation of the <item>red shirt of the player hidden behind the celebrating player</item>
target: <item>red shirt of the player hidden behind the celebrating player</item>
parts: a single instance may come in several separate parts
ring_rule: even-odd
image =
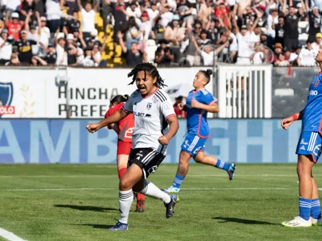
[[[118,110],[121,110],[123,105],[124,103],[119,103],[110,107],[110,110],[108,110],[105,114],[105,118],[108,118],[108,116],[112,116],[112,114]],[[119,127],[119,133],[117,135],[119,136],[120,140],[123,140],[123,142],[132,142],[132,132],[134,129],[133,114],[128,114],[125,118],[123,118],[123,120],[115,123],[114,125],[118,125]],[[112,128],[108,126],[108,129]]]

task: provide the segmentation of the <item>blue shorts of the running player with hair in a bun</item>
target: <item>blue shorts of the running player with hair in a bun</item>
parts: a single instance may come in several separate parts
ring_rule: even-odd
[[[200,138],[196,134],[187,134],[184,143],[181,145],[182,151],[189,153],[192,157],[199,151],[205,151],[205,143],[208,138]]]

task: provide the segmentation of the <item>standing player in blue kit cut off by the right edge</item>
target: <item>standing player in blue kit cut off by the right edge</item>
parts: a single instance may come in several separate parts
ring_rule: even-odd
[[[285,227],[310,227],[322,225],[321,206],[317,183],[312,175],[312,167],[319,159],[322,148],[322,50],[319,50],[315,60],[321,72],[313,78],[306,107],[301,112],[285,118],[281,125],[287,129],[294,121],[302,120],[301,136],[297,144],[297,175],[299,177],[299,216],[289,222],[283,222]]]

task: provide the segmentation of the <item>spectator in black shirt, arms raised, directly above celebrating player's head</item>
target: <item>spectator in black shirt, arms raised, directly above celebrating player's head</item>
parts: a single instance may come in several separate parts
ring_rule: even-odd
[[[145,40],[143,40],[143,45],[141,45],[140,50],[138,49],[138,44],[136,42],[132,42],[131,49],[127,49],[123,41],[123,34],[121,33],[121,31],[119,31],[117,35],[120,40],[123,54],[126,56],[127,66],[136,66],[136,64],[147,62],[147,55],[145,53]]]

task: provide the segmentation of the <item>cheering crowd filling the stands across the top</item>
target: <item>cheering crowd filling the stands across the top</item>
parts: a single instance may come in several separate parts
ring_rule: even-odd
[[[314,66],[321,0],[0,0],[1,65]],[[103,34],[95,28],[97,14]],[[106,29],[113,32],[108,42]],[[115,53],[113,53],[115,54]],[[113,57],[113,56],[112,56]]]

